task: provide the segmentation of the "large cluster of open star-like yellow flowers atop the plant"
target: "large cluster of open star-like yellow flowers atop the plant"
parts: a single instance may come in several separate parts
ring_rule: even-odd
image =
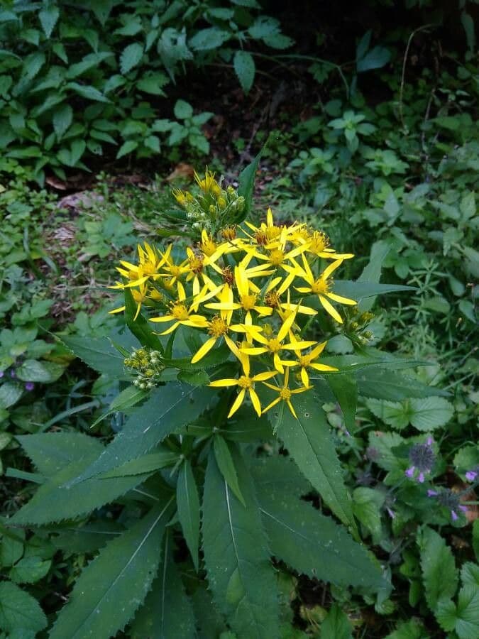
[[[229,346],[241,369],[238,377],[210,383],[238,389],[229,417],[246,396],[258,415],[285,401],[296,417],[292,396],[312,388],[309,371],[337,370],[318,361],[326,342],[302,337],[304,324],[318,312],[303,298],[316,296],[334,320],[343,322],[331,301],[356,302],[334,293],[331,275],[353,256],[336,253],[323,233],[306,224],[275,224],[270,210],[260,226],[226,226],[219,239],[204,229],[201,241],[185,249],[181,261],[175,260],[172,246],[165,252],[139,246],[138,264],[122,261],[118,271],[123,282],[114,288],[131,290],[136,315],[143,303],[159,310],[150,321],[167,324],[161,335],[180,326],[202,331],[207,339],[192,357],[193,364],[219,342]],[[322,270],[319,258],[329,261]],[[290,370],[298,374],[290,376]],[[272,378],[281,381],[275,385]],[[265,408],[258,384],[277,393]]]

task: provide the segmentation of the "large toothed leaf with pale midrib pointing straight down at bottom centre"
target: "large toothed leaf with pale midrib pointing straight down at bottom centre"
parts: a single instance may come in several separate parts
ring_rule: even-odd
[[[253,482],[238,454],[234,462],[246,508],[221,475],[212,451],[208,458],[202,531],[209,588],[239,639],[271,639],[279,623],[275,573]]]

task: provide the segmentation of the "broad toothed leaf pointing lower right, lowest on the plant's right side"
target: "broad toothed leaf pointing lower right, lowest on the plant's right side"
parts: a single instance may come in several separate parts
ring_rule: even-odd
[[[273,555],[297,572],[337,586],[385,585],[379,565],[333,518],[285,491],[274,477],[257,484],[257,493]]]

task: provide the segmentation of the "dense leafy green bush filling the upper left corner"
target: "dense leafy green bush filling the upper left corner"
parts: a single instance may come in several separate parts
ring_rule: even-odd
[[[224,60],[248,92],[255,64],[238,43],[292,45],[257,3],[221,9],[212,1],[129,1],[120,11],[116,5],[11,4],[0,14],[0,170],[16,166],[12,160],[26,162],[42,183],[45,168],[64,179],[70,168],[88,170],[95,155],[148,158],[162,144],[209,153],[202,125],[211,113],[193,115],[180,99],[176,120],[156,118],[168,85],[187,70],[197,74]]]

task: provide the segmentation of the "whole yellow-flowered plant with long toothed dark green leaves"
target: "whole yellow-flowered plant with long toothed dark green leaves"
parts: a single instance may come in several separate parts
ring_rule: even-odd
[[[390,594],[336,442],[355,427],[358,388],[382,397],[378,367],[407,365],[368,346],[364,305],[404,287],[333,280],[353,255],[320,229],[248,217],[257,168],[238,190],[208,170],[197,195],[176,190],[164,241],[119,263],[112,312],[126,325],[65,338],[120,391],[101,416],[114,415],[113,439],[21,438],[42,485],[11,525],[73,529],[72,552],[95,554],[50,639],[289,636],[298,574],[378,606]],[[353,354],[326,354],[341,333]]]

